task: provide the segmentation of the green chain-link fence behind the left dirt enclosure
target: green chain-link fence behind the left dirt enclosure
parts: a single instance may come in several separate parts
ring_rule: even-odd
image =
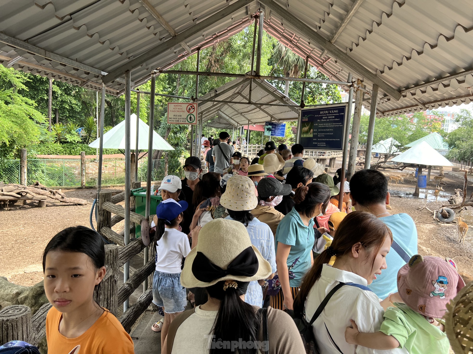
[[[151,179],[160,181],[166,175],[184,177],[184,159],[153,160]],[[47,187],[80,187],[80,160],[27,160],[27,184],[36,181]],[[133,171],[133,168],[132,168]],[[148,160],[138,161],[138,181],[146,182]],[[85,161],[85,184],[96,186],[98,178],[98,160]],[[131,176],[133,179],[134,176]],[[20,160],[0,161],[0,181],[4,183],[20,183]],[[102,185],[125,184],[125,160],[102,160]]]

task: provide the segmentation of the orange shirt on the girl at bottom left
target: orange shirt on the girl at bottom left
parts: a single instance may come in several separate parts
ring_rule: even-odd
[[[119,320],[105,311],[82,335],[76,338],[64,337],[59,332],[62,312],[52,307],[46,316],[46,340],[48,354],[66,354],[80,345],[84,354],[134,354],[133,341]]]

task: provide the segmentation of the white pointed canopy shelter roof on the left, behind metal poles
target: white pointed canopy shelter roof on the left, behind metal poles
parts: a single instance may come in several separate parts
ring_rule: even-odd
[[[130,116],[130,146],[136,147],[136,114]],[[138,150],[148,150],[149,126],[140,119],[138,129]],[[92,148],[99,147],[99,139],[89,144]],[[104,134],[104,149],[125,149],[125,121],[120,122]],[[174,150],[158,133],[153,131],[153,149],[155,150]]]

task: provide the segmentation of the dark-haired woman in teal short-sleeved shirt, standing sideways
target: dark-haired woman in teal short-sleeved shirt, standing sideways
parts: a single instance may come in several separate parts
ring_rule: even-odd
[[[271,296],[271,307],[280,310],[293,309],[302,278],[314,262],[314,217],[325,213],[330,189],[322,183],[310,183],[296,190],[294,201],[296,205],[276,229],[276,264],[281,288],[277,295]],[[292,264],[294,277],[289,278]]]

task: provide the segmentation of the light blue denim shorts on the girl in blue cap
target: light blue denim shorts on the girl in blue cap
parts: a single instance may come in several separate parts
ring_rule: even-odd
[[[164,307],[166,313],[184,311],[187,299],[185,287],[181,285],[181,273],[154,271],[153,303]]]

